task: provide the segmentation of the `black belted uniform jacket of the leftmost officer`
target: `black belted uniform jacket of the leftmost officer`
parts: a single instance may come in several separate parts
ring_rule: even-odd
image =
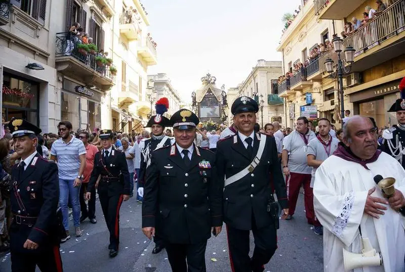
[[[47,246],[58,243],[58,166],[36,153],[24,172],[20,171],[21,167],[18,163],[12,168],[11,210],[14,215],[37,218],[30,218],[30,221],[35,221],[32,225],[17,223],[23,221],[24,217],[14,219],[10,230],[10,245],[19,252],[41,252]],[[37,243],[38,249],[24,249],[27,239]]]

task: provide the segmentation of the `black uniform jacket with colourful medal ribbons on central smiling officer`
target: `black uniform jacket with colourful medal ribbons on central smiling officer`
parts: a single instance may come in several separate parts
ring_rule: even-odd
[[[194,146],[185,166],[176,144],[152,153],[146,171],[142,227],[153,226],[164,240],[195,244],[222,225],[222,191],[215,173],[215,154]]]

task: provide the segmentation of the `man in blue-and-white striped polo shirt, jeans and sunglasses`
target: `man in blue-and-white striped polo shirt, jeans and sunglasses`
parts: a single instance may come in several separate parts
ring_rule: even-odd
[[[51,160],[57,161],[59,169],[59,205],[62,208],[63,226],[66,230],[66,242],[69,235],[69,212],[67,208],[70,199],[73,209],[73,224],[76,237],[82,236],[80,230],[79,191],[86,167],[86,148],[82,141],[71,135],[72,124],[63,121],[58,124],[61,138],[56,140],[51,148]],[[83,196],[82,196],[83,197]]]

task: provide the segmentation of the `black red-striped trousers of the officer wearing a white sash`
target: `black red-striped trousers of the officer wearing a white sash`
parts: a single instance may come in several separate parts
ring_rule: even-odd
[[[277,232],[274,225],[258,229],[254,217],[252,218],[252,233],[255,239],[252,258],[249,257],[250,231],[238,230],[226,224],[226,232],[232,272],[264,271],[264,264],[270,261],[277,249]]]

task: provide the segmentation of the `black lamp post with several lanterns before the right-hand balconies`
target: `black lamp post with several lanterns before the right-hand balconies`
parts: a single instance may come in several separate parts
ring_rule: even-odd
[[[347,67],[344,65],[342,61],[342,50],[343,50],[343,40],[340,37],[334,37],[332,40],[333,46],[335,48],[335,52],[338,55],[338,63],[337,63],[337,70],[336,72],[334,71],[334,61],[332,59],[327,59],[325,61],[325,67],[326,70],[332,74],[335,72],[334,78],[338,78],[338,83],[339,83],[339,94],[340,94],[340,112],[341,112],[341,118],[345,115],[345,109],[344,109],[344,93],[343,93],[343,75],[347,75],[350,73],[351,70],[351,65],[354,62],[354,52],[356,50],[352,47],[346,47],[344,50],[346,62],[349,64]]]

